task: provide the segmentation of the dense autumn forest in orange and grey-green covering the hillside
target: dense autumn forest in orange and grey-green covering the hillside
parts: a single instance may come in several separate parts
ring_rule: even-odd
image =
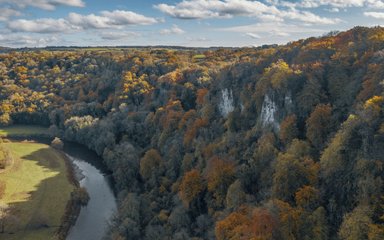
[[[384,239],[384,28],[235,49],[8,49],[0,124],[86,145],[108,239]]]

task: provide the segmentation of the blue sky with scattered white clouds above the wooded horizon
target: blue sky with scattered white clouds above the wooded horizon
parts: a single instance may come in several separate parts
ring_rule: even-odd
[[[0,0],[0,46],[244,47],[384,24],[384,0]]]

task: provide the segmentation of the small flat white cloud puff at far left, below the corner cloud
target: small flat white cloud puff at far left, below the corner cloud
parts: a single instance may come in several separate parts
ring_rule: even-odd
[[[14,32],[33,32],[33,33],[60,33],[75,29],[63,18],[41,18],[36,20],[18,19],[10,21],[8,28]]]

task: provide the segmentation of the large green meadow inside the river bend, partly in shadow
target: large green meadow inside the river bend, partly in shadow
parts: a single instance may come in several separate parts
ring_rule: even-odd
[[[29,133],[38,128],[10,128],[5,133]],[[0,173],[6,183],[1,205],[11,206],[10,219],[0,239],[54,239],[74,186],[67,178],[63,156],[45,144],[5,143],[13,164]],[[10,234],[13,233],[13,234]]]

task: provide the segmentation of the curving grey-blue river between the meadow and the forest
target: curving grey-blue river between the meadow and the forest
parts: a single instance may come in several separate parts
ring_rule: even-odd
[[[67,240],[100,240],[105,236],[117,209],[111,175],[95,153],[80,145],[65,143],[64,152],[75,168],[81,171],[80,186],[86,188],[90,196],[87,206],[81,208],[75,225],[71,227]]]

